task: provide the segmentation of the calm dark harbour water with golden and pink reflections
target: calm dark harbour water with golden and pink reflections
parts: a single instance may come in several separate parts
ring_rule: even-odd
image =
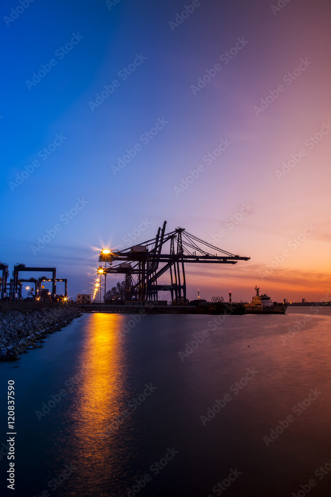
[[[8,495],[302,497],[311,479],[310,496],[329,495],[331,472],[314,472],[331,469],[331,309],[226,316],[218,326],[212,318],[149,315],[123,334],[130,316],[87,314],[18,363],[1,363],[0,443],[8,379],[16,393]],[[52,395],[58,402],[38,419]],[[65,479],[66,464],[76,469]],[[5,457],[0,468],[6,495]]]

